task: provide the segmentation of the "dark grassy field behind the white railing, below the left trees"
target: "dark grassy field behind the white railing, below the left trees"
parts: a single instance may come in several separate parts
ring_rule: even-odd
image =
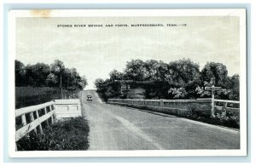
[[[77,93],[63,90],[63,97],[67,99],[71,94]],[[61,99],[61,90],[58,88],[15,87],[15,109],[38,105],[56,99]]]

